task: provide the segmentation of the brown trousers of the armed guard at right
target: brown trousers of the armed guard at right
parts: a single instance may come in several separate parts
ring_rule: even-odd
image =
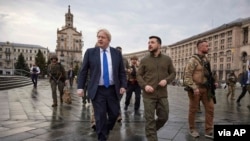
[[[214,119],[214,102],[212,98],[208,98],[208,91],[206,88],[199,88],[200,95],[194,95],[192,92],[188,92],[189,97],[189,114],[188,123],[190,131],[196,130],[195,117],[198,110],[198,106],[201,102],[205,107],[205,133],[209,134],[213,130]]]

